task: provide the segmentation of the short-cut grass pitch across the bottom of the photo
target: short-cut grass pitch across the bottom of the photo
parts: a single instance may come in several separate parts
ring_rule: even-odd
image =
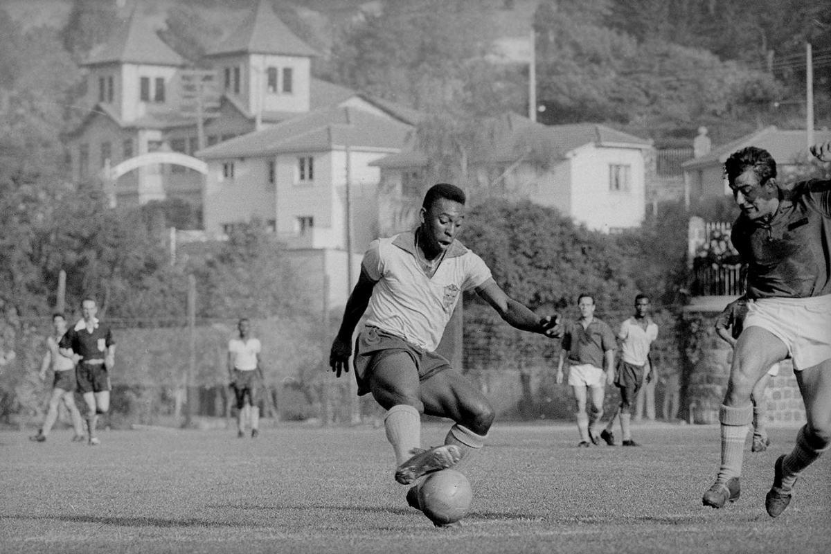
[[[425,444],[446,429],[425,426]],[[99,447],[2,432],[0,552],[831,552],[831,455],[782,516],[765,513],[796,429],[748,450],[742,496],[721,510],[701,506],[716,426],[635,431],[642,448],[577,449],[572,424],[497,424],[450,529],[406,506],[383,428],[109,431]]]

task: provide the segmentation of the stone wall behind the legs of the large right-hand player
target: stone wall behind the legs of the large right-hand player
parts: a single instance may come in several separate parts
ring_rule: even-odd
[[[721,298],[725,306],[732,298]],[[715,333],[715,311],[711,306],[688,306],[682,326],[686,326],[684,375],[681,380],[687,419],[697,424],[717,424],[719,407],[727,388],[733,350]],[[805,407],[794,377],[793,365],[784,360],[779,375],[765,390],[767,423],[799,424],[805,420]]]

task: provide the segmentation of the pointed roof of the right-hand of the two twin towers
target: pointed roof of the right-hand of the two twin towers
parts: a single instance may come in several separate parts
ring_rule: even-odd
[[[210,49],[205,56],[232,54],[283,54],[286,56],[318,56],[286,27],[271,6],[270,0],[259,0],[257,7],[229,34],[223,42]]]

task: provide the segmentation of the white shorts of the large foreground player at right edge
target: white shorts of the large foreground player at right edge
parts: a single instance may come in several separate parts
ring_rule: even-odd
[[[745,329],[748,327],[761,327],[784,342],[794,360],[794,371],[831,360],[831,294],[748,302]]]

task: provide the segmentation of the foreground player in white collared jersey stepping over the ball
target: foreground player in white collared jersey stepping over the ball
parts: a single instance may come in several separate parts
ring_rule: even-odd
[[[465,193],[452,184],[431,187],[415,231],[370,244],[332,343],[329,363],[340,377],[348,371],[352,334],[366,311],[354,359],[358,395],[371,393],[387,410],[386,438],[402,484],[481,449],[494,420],[479,388],[435,353],[462,292],[475,290],[518,329],[559,332],[557,316],[540,318],[506,295],[482,259],[459,242],[464,221]],[[455,422],[445,444],[421,449],[421,414]]]

